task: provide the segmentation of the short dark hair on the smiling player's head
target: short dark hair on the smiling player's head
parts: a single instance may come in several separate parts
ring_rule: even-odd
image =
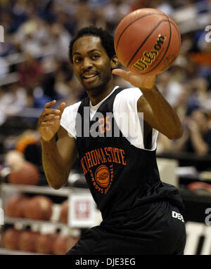
[[[77,39],[84,36],[95,36],[101,39],[101,45],[105,48],[108,57],[111,59],[115,55],[114,39],[113,36],[106,30],[94,26],[84,27],[77,32],[77,35],[70,41],[69,58],[72,62],[72,46]]]

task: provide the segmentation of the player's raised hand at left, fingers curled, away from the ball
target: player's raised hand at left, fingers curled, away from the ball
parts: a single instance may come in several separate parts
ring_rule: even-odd
[[[56,135],[60,127],[60,118],[63,114],[66,104],[60,103],[57,109],[53,109],[56,100],[46,103],[44,110],[39,117],[39,131],[43,140],[49,141]]]

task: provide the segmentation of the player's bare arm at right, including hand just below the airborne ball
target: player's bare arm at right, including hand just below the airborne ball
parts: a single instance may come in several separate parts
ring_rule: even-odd
[[[183,127],[179,117],[155,86],[155,75],[144,76],[119,69],[113,70],[113,74],[141,89],[143,96],[139,98],[137,108],[138,112],[143,112],[144,121],[169,139],[181,138]]]

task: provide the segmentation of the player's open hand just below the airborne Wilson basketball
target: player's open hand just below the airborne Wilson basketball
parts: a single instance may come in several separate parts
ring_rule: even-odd
[[[155,75],[137,74],[131,71],[124,71],[122,69],[112,70],[113,74],[122,77],[129,81],[130,84],[137,88],[153,88],[155,86]]]

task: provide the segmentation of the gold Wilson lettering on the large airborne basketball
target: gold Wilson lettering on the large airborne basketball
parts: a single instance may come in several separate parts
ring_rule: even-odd
[[[162,48],[166,40],[166,36],[162,36],[161,34],[158,35],[158,39],[151,51],[144,51],[143,57],[134,63],[133,67],[136,70],[144,71],[148,68],[149,65],[153,63],[155,58],[158,57],[159,51]]]

